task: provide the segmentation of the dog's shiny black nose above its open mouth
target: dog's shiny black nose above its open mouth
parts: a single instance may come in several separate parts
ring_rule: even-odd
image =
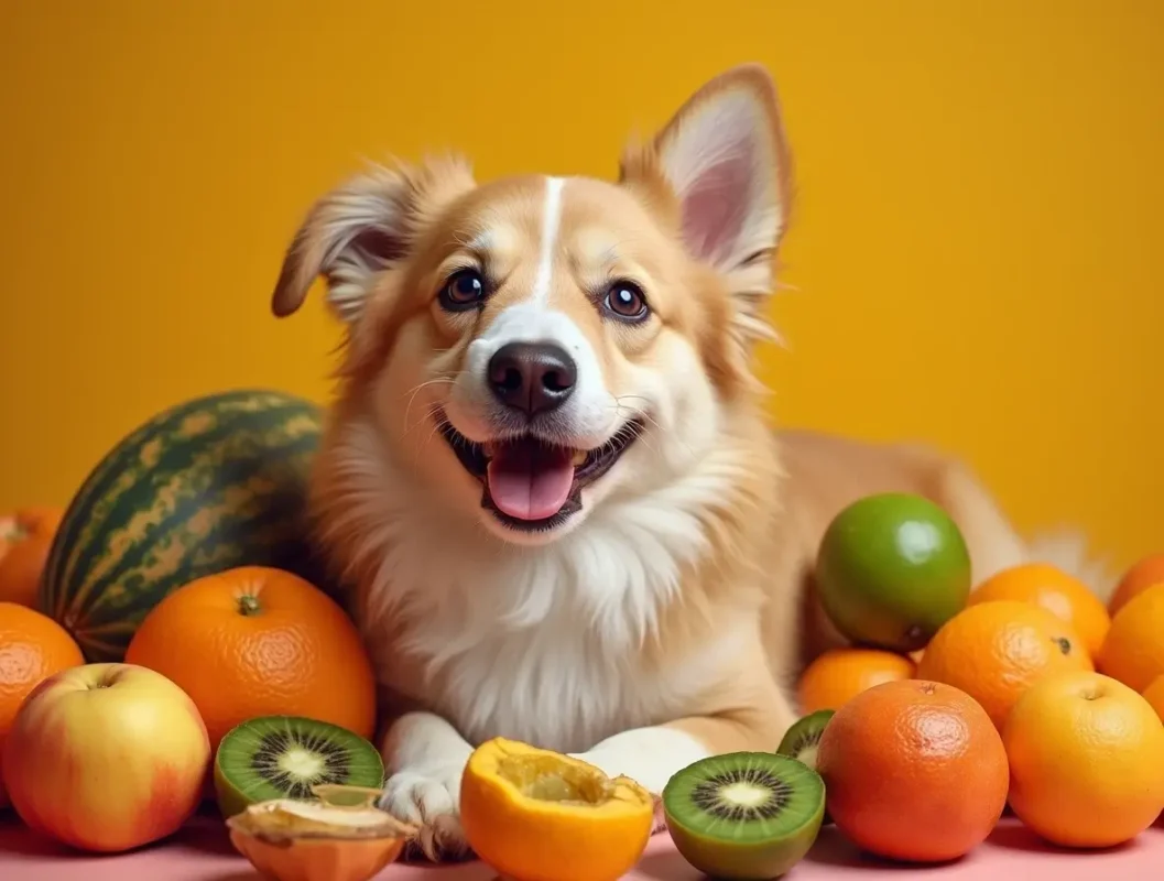
[[[577,364],[554,343],[506,343],[489,360],[489,385],[496,398],[530,415],[565,404],[576,382]]]

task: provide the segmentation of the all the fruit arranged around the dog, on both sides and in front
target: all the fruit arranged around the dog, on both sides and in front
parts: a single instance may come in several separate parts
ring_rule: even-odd
[[[0,808],[74,847],[173,833],[207,797],[275,878],[360,881],[418,830],[375,807],[371,663],[305,540],[321,415],[275,392],[142,425],[65,511],[0,518]],[[661,811],[709,875],[771,879],[822,825],[914,862],[977,847],[1009,809],[1057,845],[1130,840],[1164,810],[1164,555],[1105,606],[1055,567],[971,583],[931,503],[861,499],[816,578],[847,642],[799,683],[772,752],[717,755],[662,794],[504,739],[461,820],[501,874],[613,881]]]

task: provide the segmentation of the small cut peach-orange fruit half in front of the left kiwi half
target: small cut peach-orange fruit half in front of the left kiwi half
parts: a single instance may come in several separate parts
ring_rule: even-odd
[[[368,881],[417,829],[375,807],[381,790],[321,784],[318,801],[276,798],[236,813],[230,843],[277,881]]]

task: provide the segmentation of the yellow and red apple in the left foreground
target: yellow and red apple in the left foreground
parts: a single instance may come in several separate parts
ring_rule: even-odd
[[[26,698],[3,749],[13,808],[86,851],[165,838],[201,800],[210,738],[186,692],[129,663],[63,670]]]

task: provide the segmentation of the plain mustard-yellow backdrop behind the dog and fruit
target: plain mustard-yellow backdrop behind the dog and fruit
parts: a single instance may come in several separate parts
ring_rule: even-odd
[[[13,0],[0,50],[0,509],[189,396],[326,399],[335,325],[268,298],[364,157],[610,175],[754,59],[800,189],[779,415],[945,445],[1119,564],[1164,549],[1164,3]]]

